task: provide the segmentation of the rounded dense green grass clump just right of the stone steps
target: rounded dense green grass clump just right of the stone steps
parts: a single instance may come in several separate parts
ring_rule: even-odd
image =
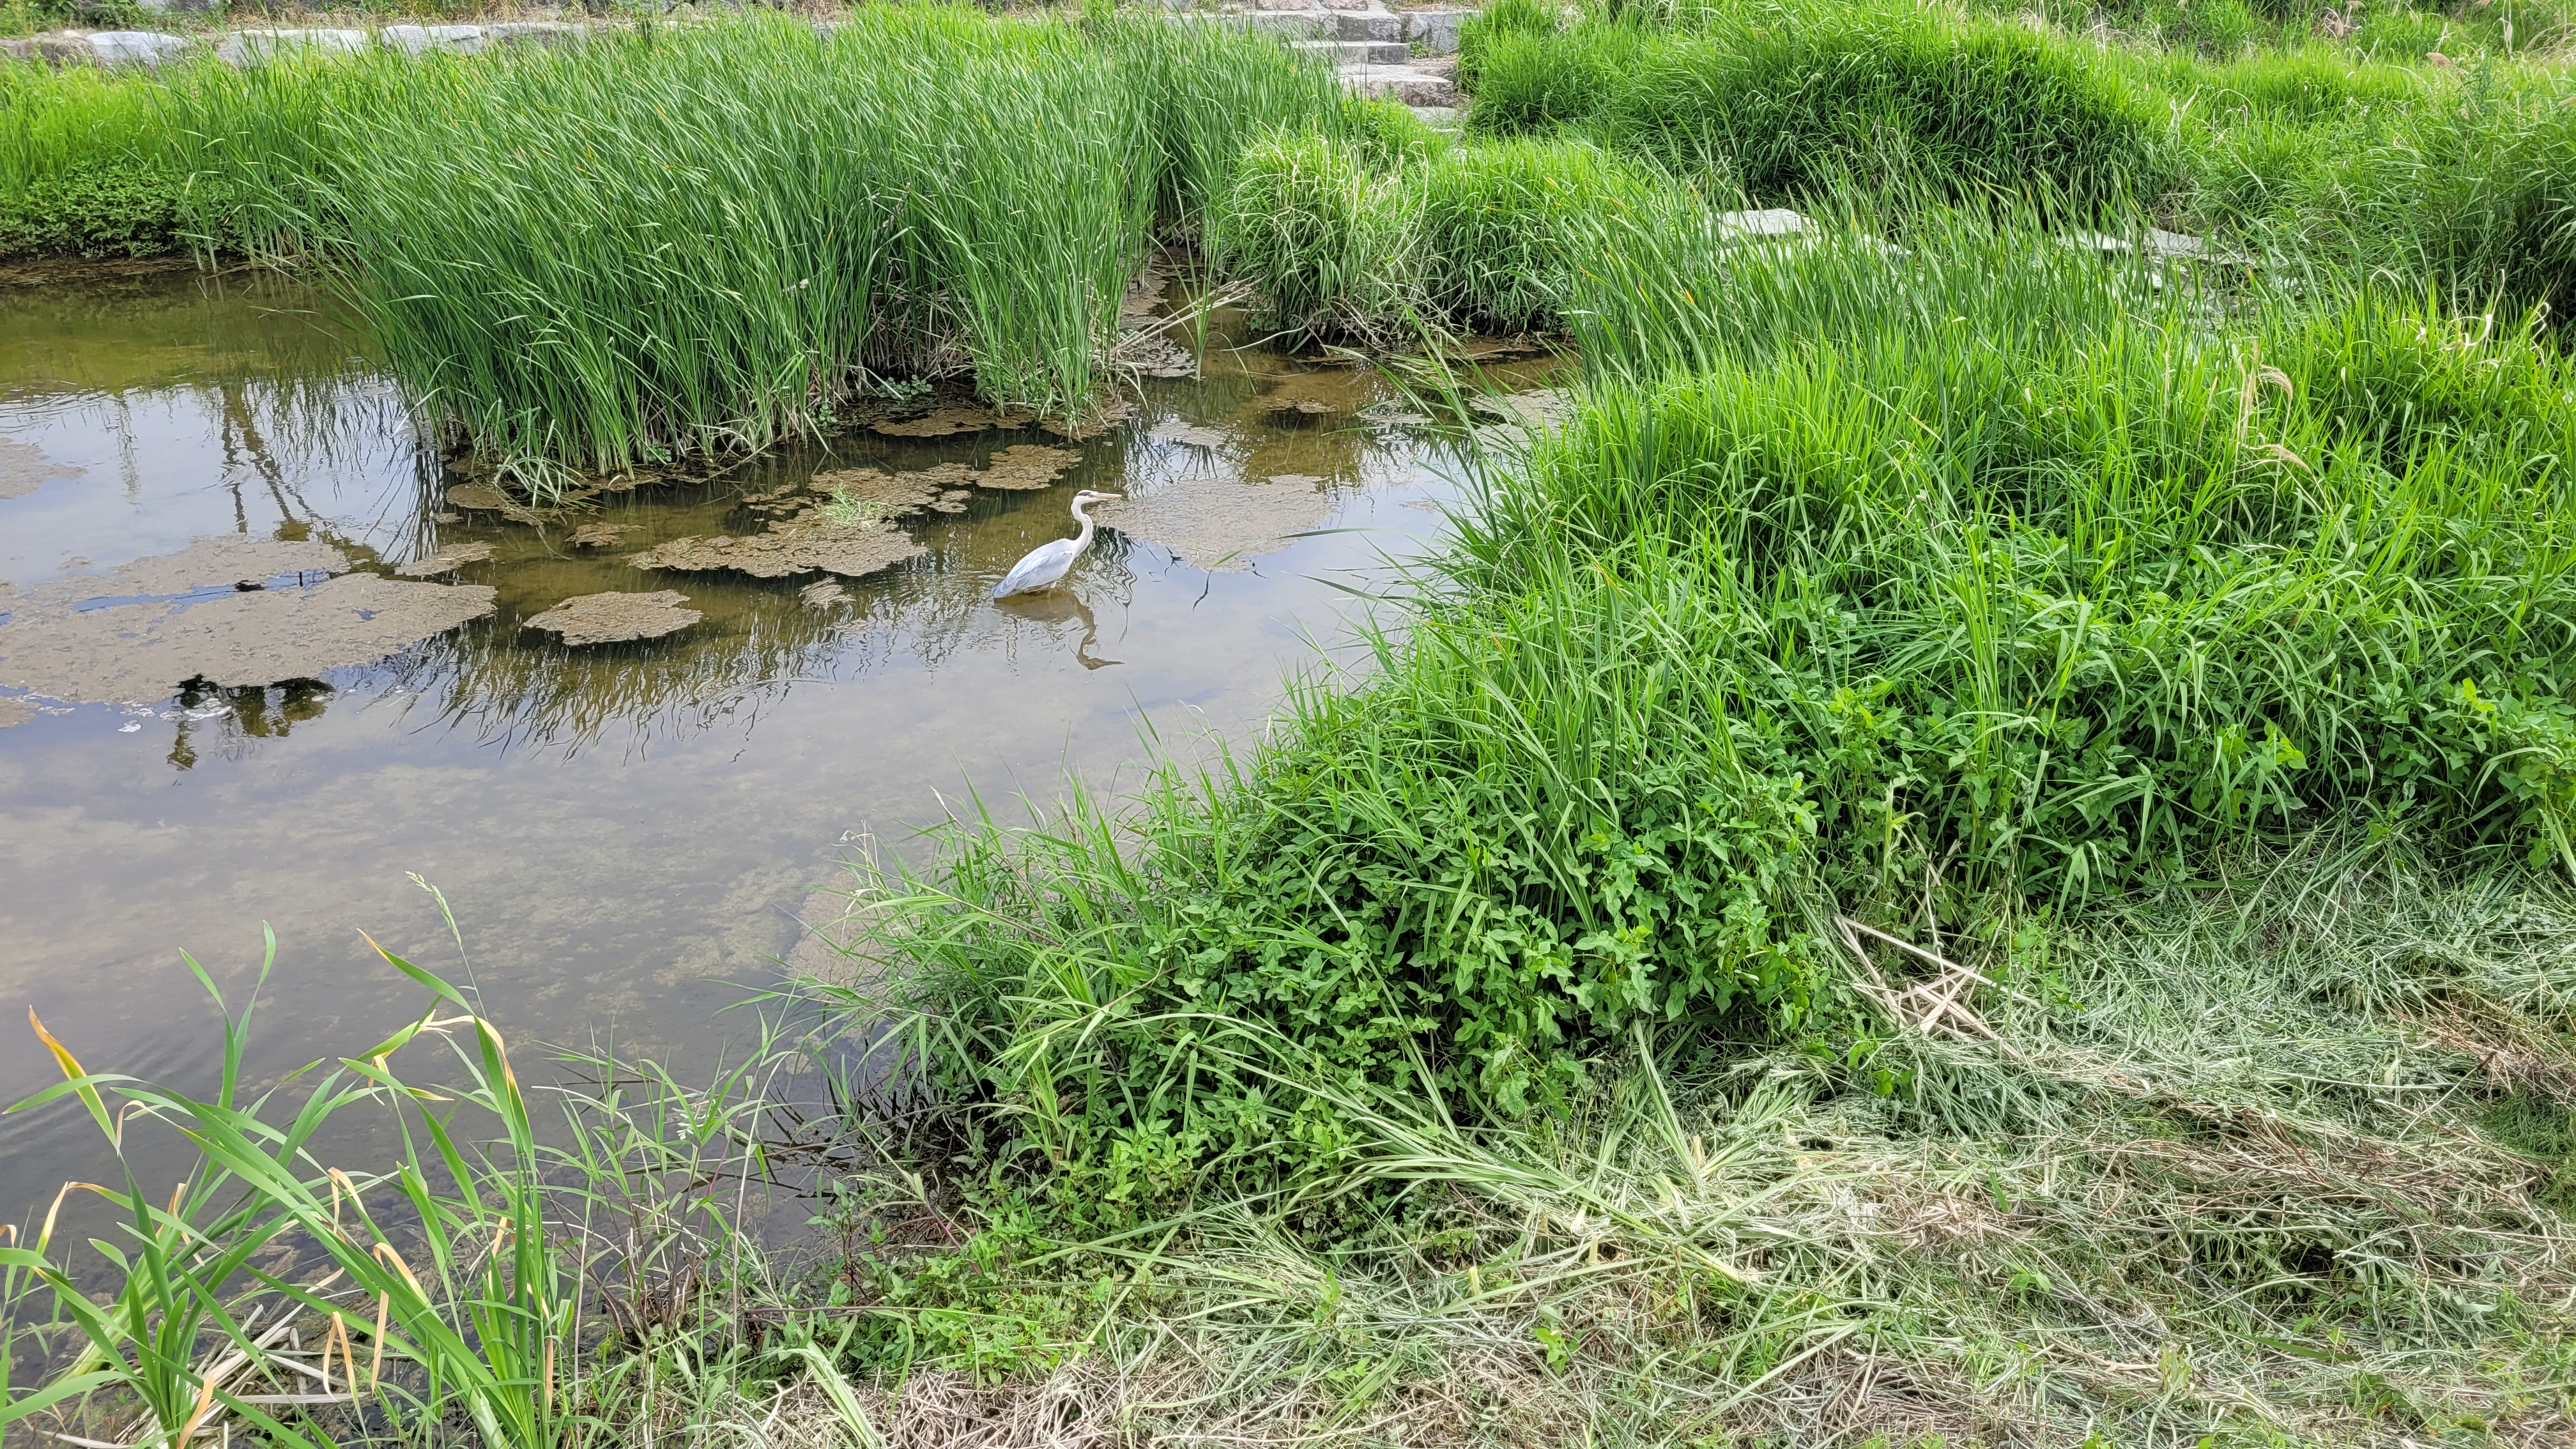
[[[1844,178],[1953,196],[2159,196],[2164,116],[2120,70],[2022,26],[1911,8],[1708,10],[1492,41],[1471,124],[1574,124],[1757,199]]]

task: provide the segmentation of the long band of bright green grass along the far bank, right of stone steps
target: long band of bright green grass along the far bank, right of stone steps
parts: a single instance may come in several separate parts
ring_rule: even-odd
[[[2002,18],[1723,3],[1497,34],[1471,126],[1564,131],[1713,193],[2146,211],[2275,268],[2396,271],[2470,309],[2576,307],[2576,80],[2524,52],[2282,39],[2151,54]]]

